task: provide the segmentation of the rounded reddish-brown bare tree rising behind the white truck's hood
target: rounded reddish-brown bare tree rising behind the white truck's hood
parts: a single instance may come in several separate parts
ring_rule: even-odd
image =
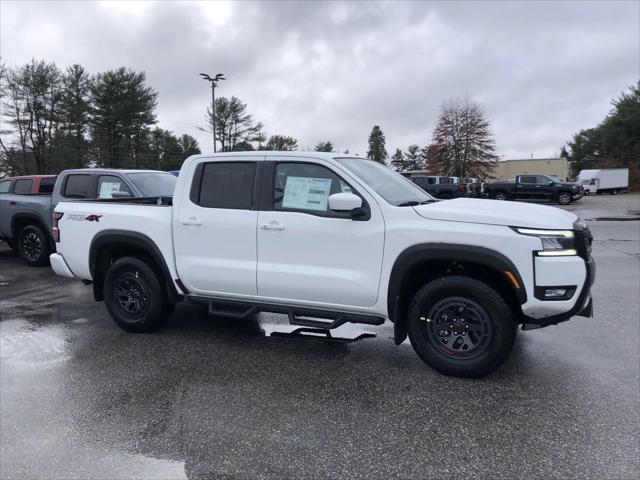
[[[498,159],[489,121],[482,106],[469,100],[451,99],[442,106],[428,166],[434,175],[489,178]]]

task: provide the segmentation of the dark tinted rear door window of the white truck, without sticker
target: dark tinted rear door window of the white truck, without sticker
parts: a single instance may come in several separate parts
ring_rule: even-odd
[[[202,171],[200,194],[194,201],[207,208],[249,210],[253,204],[255,176],[255,163],[207,163]]]

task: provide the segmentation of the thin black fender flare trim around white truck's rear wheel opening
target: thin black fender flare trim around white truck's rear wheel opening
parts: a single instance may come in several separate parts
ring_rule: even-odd
[[[93,282],[93,295],[96,300],[102,300],[102,280],[96,280],[95,271],[98,266],[98,252],[109,244],[128,244],[144,250],[160,267],[164,282],[167,286],[167,294],[174,302],[181,301],[187,291],[179,292],[174,284],[174,280],[167,266],[167,262],[156,243],[146,235],[128,230],[103,230],[97,233],[91,240],[89,246],[89,271]]]

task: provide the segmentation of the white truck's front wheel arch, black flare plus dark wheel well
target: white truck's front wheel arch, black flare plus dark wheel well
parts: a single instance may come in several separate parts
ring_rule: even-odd
[[[506,272],[513,275],[515,282]],[[460,274],[489,283],[520,318],[520,305],[527,301],[527,293],[518,269],[502,253],[472,245],[422,243],[405,249],[391,269],[387,311],[394,323],[396,344],[407,337],[406,311],[415,292],[435,278]]]

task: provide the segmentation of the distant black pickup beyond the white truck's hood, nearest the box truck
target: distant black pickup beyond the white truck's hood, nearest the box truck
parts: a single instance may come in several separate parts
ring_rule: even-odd
[[[583,196],[580,185],[562,182],[551,175],[518,175],[514,182],[488,184],[486,192],[496,200],[550,199],[560,205],[568,205]]]

